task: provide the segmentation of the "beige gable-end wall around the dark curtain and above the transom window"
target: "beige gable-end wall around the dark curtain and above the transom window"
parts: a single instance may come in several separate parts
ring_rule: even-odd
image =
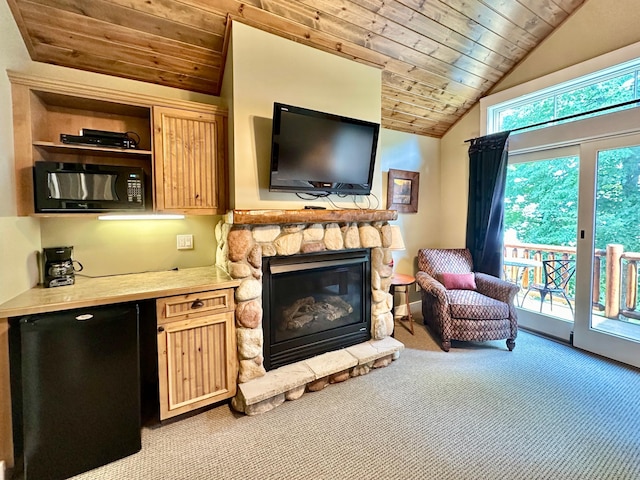
[[[640,41],[637,0],[587,0],[525,58],[493,93]],[[480,135],[480,108],[474,106],[442,138],[442,246],[463,246],[467,215],[468,138]]]

